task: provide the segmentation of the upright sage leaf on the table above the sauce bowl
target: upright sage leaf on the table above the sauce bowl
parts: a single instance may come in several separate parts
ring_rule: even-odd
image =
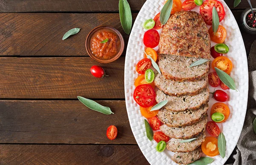
[[[127,0],[119,0],[119,16],[122,28],[130,34],[132,25],[131,8]]]

